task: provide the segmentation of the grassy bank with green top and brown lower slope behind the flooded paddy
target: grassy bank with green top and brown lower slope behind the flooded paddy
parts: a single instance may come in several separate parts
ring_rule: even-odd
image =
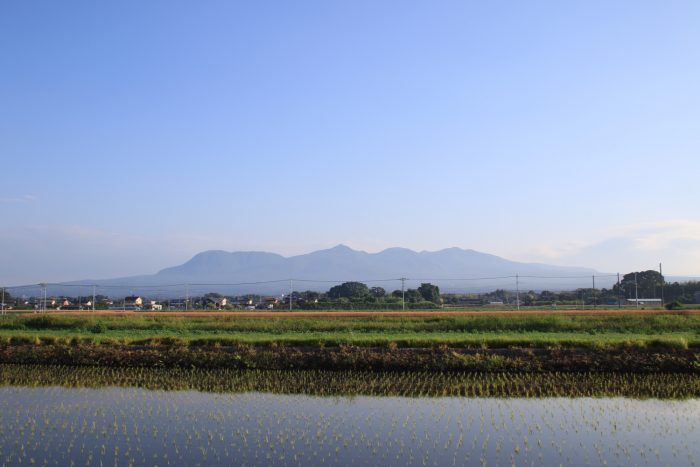
[[[3,316],[0,362],[697,372],[700,316]]]

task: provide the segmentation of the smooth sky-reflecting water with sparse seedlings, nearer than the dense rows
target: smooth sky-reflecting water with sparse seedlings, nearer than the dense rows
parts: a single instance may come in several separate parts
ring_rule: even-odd
[[[0,388],[0,463],[691,465],[700,400]]]

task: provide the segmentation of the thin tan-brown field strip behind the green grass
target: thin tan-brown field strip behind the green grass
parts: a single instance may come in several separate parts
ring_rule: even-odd
[[[239,318],[347,318],[347,317],[430,317],[430,316],[542,316],[542,315],[568,315],[568,316],[629,316],[629,315],[700,315],[700,310],[493,310],[493,311],[62,311],[50,310],[37,313],[34,310],[6,310],[6,313],[21,314],[48,314],[63,316],[179,316],[179,317],[214,317],[227,316]]]

